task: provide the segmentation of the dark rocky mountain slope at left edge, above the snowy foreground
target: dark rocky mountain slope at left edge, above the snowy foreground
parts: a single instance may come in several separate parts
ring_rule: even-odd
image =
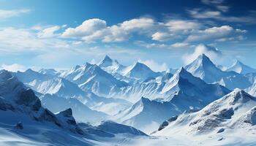
[[[24,122],[28,120],[30,122],[33,120],[34,122],[49,122],[52,126],[68,129],[75,134],[83,134],[76,125],[75,119],[72,118],[72,114],[69,115],[69,118],[72,118],[72,123],[67,123],[63,119],[64,117],[61,116],[62,114],[54,115],[49,110],[43,108],[41,101],[35,96],[34,92],[6,70],[0,71],[0,96],[0,115],[3,116],[1,117],[1,123],[12,120],[8,124],[15,124],[15,119],[24,120]],[[4,115],[7,114],[10,115],[5,117]],[[20,116],[26,116],[28,119],[23,119]]]

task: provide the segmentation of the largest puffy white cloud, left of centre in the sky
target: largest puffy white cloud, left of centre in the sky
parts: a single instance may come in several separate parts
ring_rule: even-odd
[[[62,37],[81,37],[87,43],[97,40],[102,42],[123,42],[129,39],[132,33],[145,34],[151,31],[154,23],[151,18],[135,18],[113,26],[107,26],[105,20],[94,18],[85,20],[76,28],[67,28]]]

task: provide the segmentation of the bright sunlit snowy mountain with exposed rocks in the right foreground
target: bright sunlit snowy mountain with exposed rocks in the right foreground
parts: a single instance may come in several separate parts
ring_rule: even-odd
[[[256,98],[236,89],[202,110],[167,120],[154,135],[217,134],[225,131],[256,131]],[[179,129],[179,130],[178,130]],[[182,130],[181,130],[182,129]]]

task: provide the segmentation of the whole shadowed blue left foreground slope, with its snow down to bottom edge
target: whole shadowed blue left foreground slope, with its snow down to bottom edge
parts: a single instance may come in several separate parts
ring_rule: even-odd
[[[142,131],[111,121],[96,128],[77,124],[70,108],[53,114],[6,70],[0,71],[0,96],[0,145],[113,145],[127,138],[147,137]]]

